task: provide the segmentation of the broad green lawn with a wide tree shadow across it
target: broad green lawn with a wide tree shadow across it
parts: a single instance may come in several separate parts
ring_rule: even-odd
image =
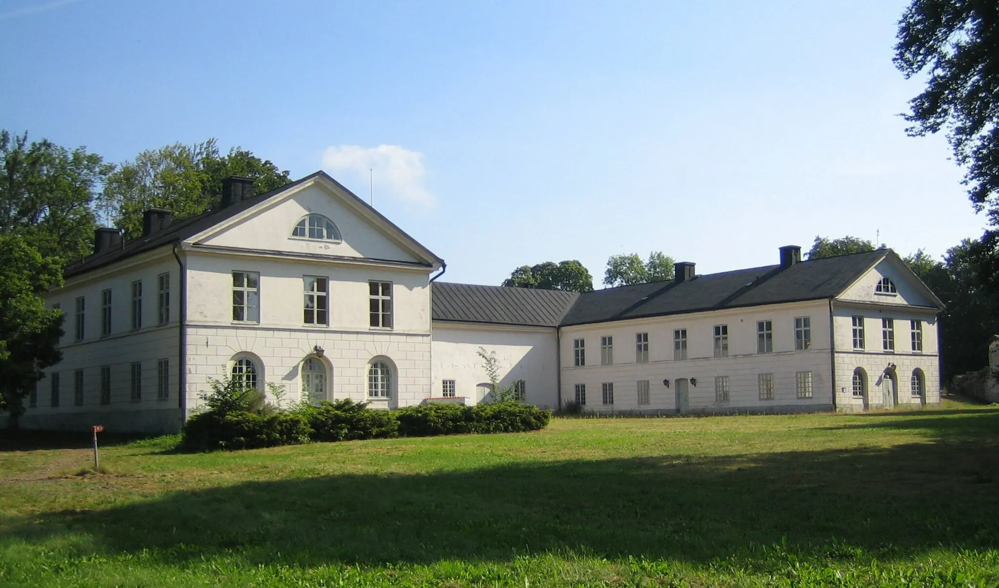
[[[0,585],[999,585],[995,406],[88,442],[0,441]]]

